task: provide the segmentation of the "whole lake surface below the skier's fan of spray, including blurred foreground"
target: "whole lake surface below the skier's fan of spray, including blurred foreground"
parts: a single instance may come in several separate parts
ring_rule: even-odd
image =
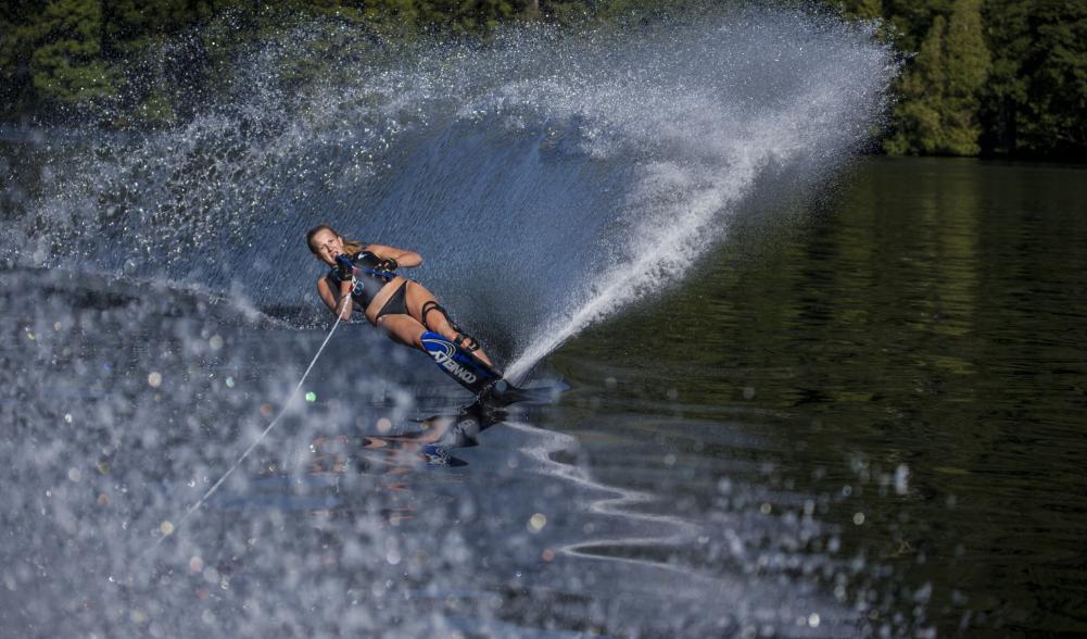
[[[866,160],[564,344],[530,379],[561,396],[509,413],[459,414],[422,355],[343,327],[309,401],[184,521],[324,329],[12,266],[0,622],[30,637],[1085,632],[1085,175]]]

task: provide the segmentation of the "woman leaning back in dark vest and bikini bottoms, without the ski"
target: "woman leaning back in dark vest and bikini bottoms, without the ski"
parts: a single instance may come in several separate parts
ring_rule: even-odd
[[[421,337],[433,331],[455,342],[487,366],[492,366],[479,344],[449,319],[434,295],[418,282],[396,274],[399,267],[423,263],[413,250],[345,239],[332,226],[322,224],[305,235],[314,257],[332,269],[317,280],[317,294],[340,318],[361,310],[370,323],[407,346],[423,351]]]

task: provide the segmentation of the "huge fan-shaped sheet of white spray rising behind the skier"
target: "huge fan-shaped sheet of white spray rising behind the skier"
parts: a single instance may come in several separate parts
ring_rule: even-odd
[[[863,26],[747,10],[322,54],[287,90],[284,66],[329,37],[355,36],[316,24],[253,51],[230,100],[183,126],[50,136],[7,257],[313,307],[302,235],[329,222],[420,250],[417,277],[516,379],[679,282],[737,211],[832,172],[895,72]]]

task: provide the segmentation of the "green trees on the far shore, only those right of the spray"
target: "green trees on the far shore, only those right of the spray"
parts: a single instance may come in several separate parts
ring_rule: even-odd
[[[1087,160],[1087,2],[848,0],[910,53],[890,153]]]

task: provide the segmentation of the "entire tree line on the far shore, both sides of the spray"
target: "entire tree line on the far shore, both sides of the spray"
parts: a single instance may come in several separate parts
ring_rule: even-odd
[[[822,0],[849,20],[880,20],[903,58],[883,132],[892,155],[1087,160],[1087,2]],[[679,0],[679,3],[686,3]],[[652,20],[650,0],[8,0],[0,9],[0,119],[88,116],[168,125],[177,99],[215,90],[247,42],[314,16],[374,41],[424,34],[486,38],[511,21]],[[809,5],[809,3],[804,3]],[[188,34],[185,46],[171,46]],[[168,51],[165,54],[164,51]]]

